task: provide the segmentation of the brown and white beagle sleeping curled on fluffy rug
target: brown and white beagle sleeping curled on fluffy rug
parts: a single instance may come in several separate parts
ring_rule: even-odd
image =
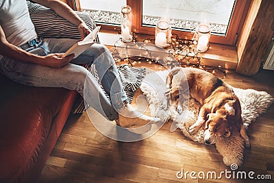
[[[175,67],[166,78],[166,87],[167,100],[175,103],[178,112],[182,112],[182,103],[189,96],[201,103],[198,119],[189,128],[190,134],[203,127],[205,143],[214,144],[216,136],[229,137],[240,132],[249,147],[240,101],[231,86],[207,71]]]

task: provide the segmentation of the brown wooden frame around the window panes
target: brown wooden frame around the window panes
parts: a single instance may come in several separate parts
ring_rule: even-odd
[[[79,0],[66,0],[66,3],[69,4],[74,10],[81,10]],[[225,36],[212,35],[210,37],[210,42],[223,45],[236,45],[250,4],[251,0],[236,0],[235,8],[232,12],[232,17],[227,28],[227,34]],[[154,27],[142,26],[142,0],[127,0],[127,5],[132,7],[134,32],[138,34],[150,34],[154,36]],[[115,27],[110,25],[101,26],[103,29],[114,29]],[[177,34],[180,38],[187,40],[191,40],[193,37],[191,32],[184,32],[179,30],[173,30],[172,32],[173,34]]]

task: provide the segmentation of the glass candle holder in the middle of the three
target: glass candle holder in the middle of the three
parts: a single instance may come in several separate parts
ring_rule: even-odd
[[[168,47],[171,40],[171,25],[169,21],[159,21],[155,28],[155,45],[157,47]]]

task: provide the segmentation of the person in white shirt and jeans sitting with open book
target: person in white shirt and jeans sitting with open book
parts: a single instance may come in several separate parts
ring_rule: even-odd
[[[53,9],[77,25],[82,39],[91,32],[84,21],[62,1],[35,2]],[[160,121],[134,111],[127,102],[115,62],[105,46],[94,44],[77,58],[73,59],[73,55],[62,58],[62,54],[77,40],[38,38],[25,0],[0,1],[0,14],[0,71],[11,80],[29,86],[77,90],[89,106],[103,117],[115,120],[121,127],[135,128]],[[110,96],[110,101],[95,77],[78,64],[95,64],[99,80]],[[141,129],[134,132],[147,132],[150,127],[149,124],[145,131]]]

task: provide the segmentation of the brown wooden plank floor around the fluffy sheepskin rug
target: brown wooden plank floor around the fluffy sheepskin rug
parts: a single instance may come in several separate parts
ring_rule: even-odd
[[[244,77],[229,71],[225,82],[238,88],[265,90],[274,96],[274,72],[260,71]],[[140,90],[136,96],[140,95]],[[251,148],[245,149],[240,170],[270,174],[274,178],[274,105],[248,130]],[[166,123],[153,136],[134,143],[121,143],[103,136],[86,113],[69,117],[38,182],[250,182],[250,180],[178,179],[177,171],[229,171],[214,145],[170,132]],[[197,176],[197,175],[196,175]],[[258,182],[256,180],[255,182]],[[271,180],[263,182],[271,182]]]

